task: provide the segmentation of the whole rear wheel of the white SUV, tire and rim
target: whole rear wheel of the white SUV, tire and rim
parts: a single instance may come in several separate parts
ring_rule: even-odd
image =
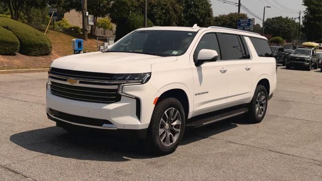
[[[246,114],[246,122],[259,123],[264,119],[267,110],[267,91],[263,85],[257,85],[254,97],[249,104],[249,112]]]

